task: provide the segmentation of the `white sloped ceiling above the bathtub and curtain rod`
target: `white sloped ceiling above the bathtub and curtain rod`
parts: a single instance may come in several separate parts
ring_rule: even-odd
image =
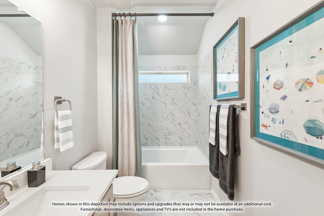
[[[92,0],[97,8],[112,7],[114,1]],[[125,1],[125,0],[124,0]],[[131,0],[129,0],[131,1]],[[133,0],[134,10],[116,13],[212,13],[218,0]],[[196,55],[209,17],[137,17],[139,55]]]

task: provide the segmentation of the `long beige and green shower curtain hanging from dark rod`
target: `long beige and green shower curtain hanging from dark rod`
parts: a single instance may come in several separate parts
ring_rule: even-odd
[[[136,18],[113,18],[113,169],[141,176]]]

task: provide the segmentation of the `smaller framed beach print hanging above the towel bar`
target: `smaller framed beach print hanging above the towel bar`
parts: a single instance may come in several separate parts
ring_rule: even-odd
[[[214,99],[244,98],[245,18],[237,21],[213,47]]]

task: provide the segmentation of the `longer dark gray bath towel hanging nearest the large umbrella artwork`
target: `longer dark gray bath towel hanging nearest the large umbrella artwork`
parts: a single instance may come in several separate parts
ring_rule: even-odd
[[[239,153],[237,117],[234,105],[230,105],[228,110],[227,151],[227,155],[218,154],[218,179],[220,188],[227,194],[228,199],[233,200],[235,154]]]

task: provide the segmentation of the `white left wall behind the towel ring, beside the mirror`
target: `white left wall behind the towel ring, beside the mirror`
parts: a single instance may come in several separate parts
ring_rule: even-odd
[[[70,169],[98,149],[96,9],[90,0],[11,2],[43,24],[45,157]],[[54,96],[72,103],[74,147],[64,152],[54,149]]]

